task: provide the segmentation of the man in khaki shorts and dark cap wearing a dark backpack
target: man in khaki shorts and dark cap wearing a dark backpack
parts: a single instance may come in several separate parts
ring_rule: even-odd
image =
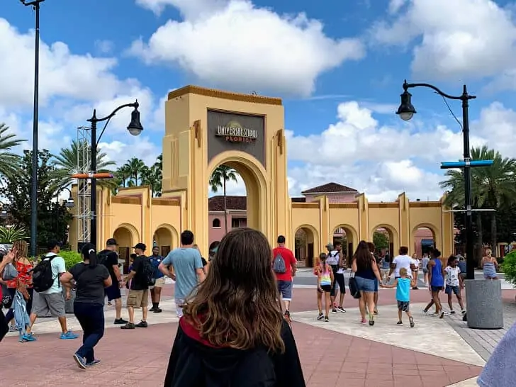
[[[145,257],[147,246],[145,243],[137,243],[135,247],[136,257],[133,262],[133,269],[125,278],[125,284],[130,281],[129,293],[127,296],[127,309],[129,322],[122,325],[122,329],[135,329],[135,327],[147,327],[147,305],[149,305],[149,286],[155,283],[154,269],[148,257]],[[125,285],[124,284],[124,285]],[[135,324],[135,308],[142,308],[142,320]]]

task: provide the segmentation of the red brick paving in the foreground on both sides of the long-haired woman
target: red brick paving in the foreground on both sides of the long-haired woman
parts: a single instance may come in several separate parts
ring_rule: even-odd
[[[38,342],[20,344],[8,337],[0,344],[0,385],[162,386],[176,329],[176,323],[134,331],[110,328],[96,349],[96,357],[103,362],[86,371],[72,360],[80,339],[38,335]],[[444,387],[481,371],[477,366],[298,322],[293,323],[293,333],[309,387]]]

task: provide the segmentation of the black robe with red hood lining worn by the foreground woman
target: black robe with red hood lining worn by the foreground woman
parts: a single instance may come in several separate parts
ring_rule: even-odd
[[[164,387],[305,387],[292,331],[284,322],[284,354],[212,347],[181,318]]]

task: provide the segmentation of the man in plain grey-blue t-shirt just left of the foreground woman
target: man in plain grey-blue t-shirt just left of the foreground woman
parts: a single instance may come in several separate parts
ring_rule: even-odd
[[[176,281],[174,300],[176,301],[176,313],[179,318],[183,315],[181,306],[184,299],[205,278],[201,253],[193,247],[194,233],[189,230],[183,231],[181,232],[181,247],[169,252],[167,257],[159,264],[159,271]],[[170,270],[171,267],[172,270]]]

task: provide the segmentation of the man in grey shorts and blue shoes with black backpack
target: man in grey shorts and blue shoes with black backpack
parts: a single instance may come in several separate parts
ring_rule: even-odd
[[[64,259],[60,257],[60,242],[50,240],[47,243],[47,254],[41,257],[41,262],[33,269],[33,287],[38,293],[33,303],[33,312],[30,313],[30,332],[38,316],[51,315],[57,317],[61,325],[62,340],[77,339],[79,335],[75,335],[68,330],[67,318],[64,310],[64,297],[62,293],[60,276],[66,273],[67,269]],[[67,290],[67,299],[70,293]]]

